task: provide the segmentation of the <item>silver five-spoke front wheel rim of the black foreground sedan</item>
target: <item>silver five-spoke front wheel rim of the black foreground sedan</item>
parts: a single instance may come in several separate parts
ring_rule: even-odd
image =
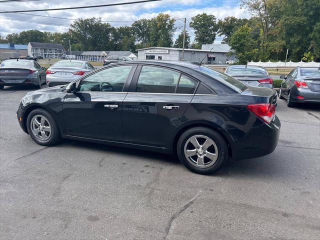
[[[30,127],[32,134],[41,141],[46,141],[51,136],[51,124],[45,116],[33,116]]]

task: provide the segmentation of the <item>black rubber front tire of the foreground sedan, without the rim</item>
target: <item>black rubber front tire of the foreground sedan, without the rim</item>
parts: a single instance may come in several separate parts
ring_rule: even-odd
[[[36,115],[44,116],[49,122],[51,133],[50,133],[48,139],[46,139],[46,140],[39,139],[38,137],[36,137],[33,134],[32,130],[31,130],[31,120]],[[35,141],[36,143],[38,143],[39,145],[51,146],[51,145],[56,144],[61,139],[58,124],[56,123],[53,116],[45,109],[36,108],[36,109],[32,110],[26,119],[26,127],[27,127],[28,133],[29,133],[30,137],[32,138],[32,140]]]

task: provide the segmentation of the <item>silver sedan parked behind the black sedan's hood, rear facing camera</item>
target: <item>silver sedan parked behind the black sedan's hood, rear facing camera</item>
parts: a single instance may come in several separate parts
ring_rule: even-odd
[[[87,61],[57,61],[46,70],[46,83],[49,86],[68,84],[93,69],[94,66]]]

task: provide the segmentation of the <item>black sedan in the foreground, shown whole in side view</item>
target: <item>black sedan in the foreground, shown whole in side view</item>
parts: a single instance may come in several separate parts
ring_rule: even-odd
[[[63,137],[177,153],[188,169],[208,174],[228,157],[274,150],[276,95],[200,64],[130,61],[27,93],[17,118],[41,145]]]

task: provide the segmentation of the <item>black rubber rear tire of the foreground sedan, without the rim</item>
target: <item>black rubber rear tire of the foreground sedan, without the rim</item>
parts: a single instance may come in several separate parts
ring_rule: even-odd
[[[209,164],[209,162],[207,162],[207,163],[204,163],[204,164],[208,164],[207,166],[202,166],[202,167],[196,166],[197,163],[194,163],[194,162],[192,163],[192,160],[190,160],[190,158],[187,159],[187,157],[185,156],[184,148],[188,147],[189,146],[188,144],[190,144],[190,143],[187,143],[187,141],[191,137],[194,137],[196,135],[206,136],[206,137],[210,138],[215,143],[216,148],[217,148],[217,158],[215,161],[212,161],[212,163],[210,163],[211,165]],[[201,139],[201,136],[199,138]],[[203,144],[203,142],[202,142],[202,144]],[[193,146],[192,146],[192,148],[193,148]],[[224,165],[224,163],[226,162],[227,157],[228,157],[228,147],[227,147],[227,144],[226,144],[224,138],[218,132],[216,132],[210,128],[207,128],[207,127],[192,127],[190,129],[187,129],[179,137],[176,147],[177,147],[177,149],[176,149],[177,155],[178,155],[180,161],[182,162],[182,164],[185,167],[187,167],[190,171],[195,172],[195,173],[199,173],[199,174],[211,174],[211,173],[217,171],[219,168],[221,168]],[[204,149],[203,162],[210,160],[209,158],[205,157],[205,150],[208,152],[209,151],[208,149]],[[214,149],[215,149],[215,147],[214,147]],[[216,150],[215,150],[215,153],[216,153]],[[198,154],[200,154],[200,153],[197,153],[197,155],[194,155],[192,157],[197,158],[199,156]]]

